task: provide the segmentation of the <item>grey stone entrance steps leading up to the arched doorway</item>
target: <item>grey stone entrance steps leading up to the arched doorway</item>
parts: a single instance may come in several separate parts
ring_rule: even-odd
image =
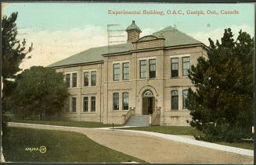
[[[132,116],[128,119],[125,126],[149,126],[150,125],[150,116],[141,115],[141,116]]]

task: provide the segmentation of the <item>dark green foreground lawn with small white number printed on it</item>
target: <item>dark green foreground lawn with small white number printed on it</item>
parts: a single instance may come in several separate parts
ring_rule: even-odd
[[[9,127],[8,138],[2,139],[5,161],[12,162],[98,162],[136,161],[133,156],[117,152],[77,132]],[[27,147],[46,147],[46,153],[27,151]]]

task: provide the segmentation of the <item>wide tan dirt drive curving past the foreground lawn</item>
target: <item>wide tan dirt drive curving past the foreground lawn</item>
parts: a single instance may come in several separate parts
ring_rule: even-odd
[[[253,163],[254,160],[251,156],[188,145],[134,132],[45,125],[16,126],[80,132],[103,146],[138,157],[149,163]]]

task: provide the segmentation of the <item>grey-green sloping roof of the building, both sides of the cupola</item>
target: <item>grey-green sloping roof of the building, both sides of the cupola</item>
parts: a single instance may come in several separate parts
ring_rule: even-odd
[[[189,37],[186,33],[182,33],[175,28],[168,26],[163,30],[159,30],[152,34],[156,37],[164,37],[164,47],[175,47],[182,45],[191,45],[191,44],[202,44],[199,40]],[[69,58],[65,58],[60,61],[49,65],[48,67],[58,67],[65,65],[78,65],[85,64],[97,61],[104,61],[103,54],[116,54],[121,52],[132,51],[132,43],[128,42],[125,44],[115,44],[110,47],[92,47],[86,51],[81,51],[78,54],[74,54]]]

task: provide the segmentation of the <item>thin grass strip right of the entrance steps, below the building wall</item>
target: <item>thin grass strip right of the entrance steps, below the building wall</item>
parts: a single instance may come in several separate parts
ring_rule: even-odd
[[[124,128],[131,130],[139,130],[146,132],[159,132],[171,135],[202,135],[202,132],[197,131],[196,128],[187,126],[149,126],[149,127],[132,127]]]

